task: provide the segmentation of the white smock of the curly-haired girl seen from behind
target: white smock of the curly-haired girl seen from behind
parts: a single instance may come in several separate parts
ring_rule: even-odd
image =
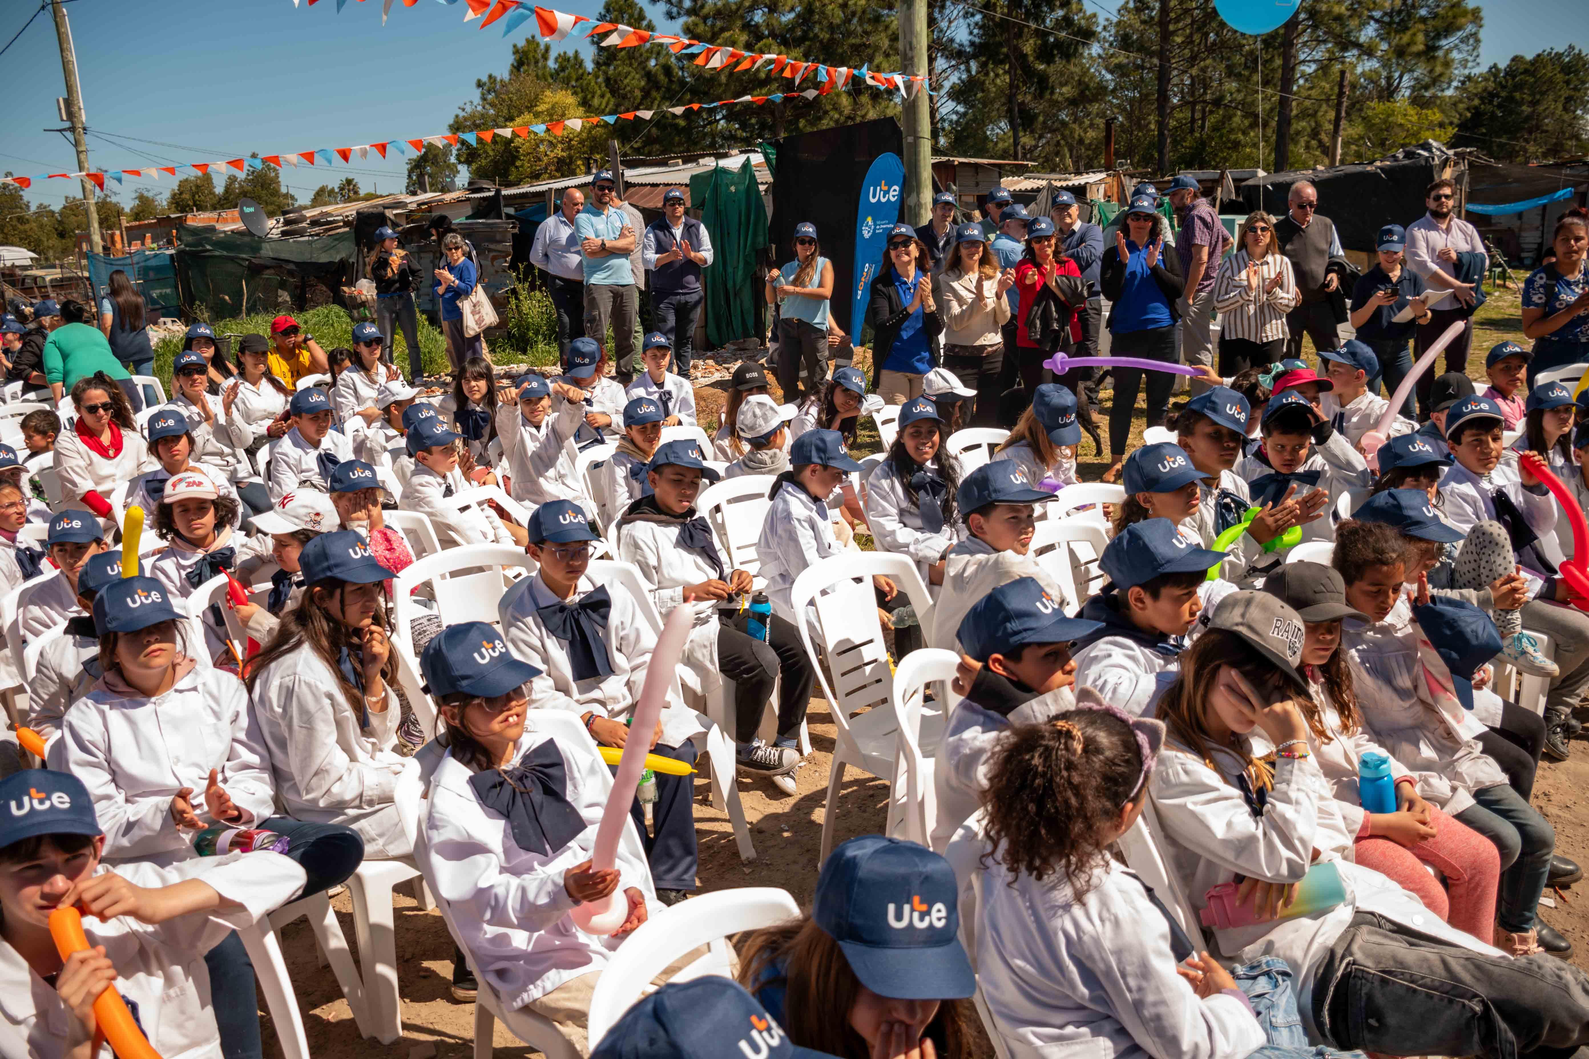
[[[977,872],[977,978],[1012,1059],[1246,1059],[1266,1043],[1244,999],[1200,999],[1176,973],[1170,922],[1123,864],[1095,867],[1081,900],[1063,872]]]

